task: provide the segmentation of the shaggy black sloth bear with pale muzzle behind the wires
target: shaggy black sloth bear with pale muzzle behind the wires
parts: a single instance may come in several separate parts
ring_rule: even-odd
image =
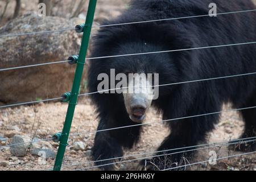
[[[118,18],[105,20],[103,24],[117,24],[207,15],[100,27],[93,39],[91,57],[98,59],[90,61],[89,92],[99,91],[98,87],[104,76],[113,79],[113,70],[114,74],[123,73],[126,76],[130,73],[158,74],[159,85],[255,72],[255,44],[100,58],[256,40],[255,11],[208,16],[210,3],[216,3],[217,14],[255,9],[251,1],[244,0],[133,0]],[[101,74],[104,76],[99,76]],[[111,84],[122,79],[123,77],[119,77],[114,82],[109,81],[109,85],[104,88],[112,88]],[[135,84],[130,84],[129,80],[127,86],[140,86],[143,82],[148,83],[147,78],[139,79]],[[150,89],[155,85],[157,84],[151,82]],[[159,96],[155,100],[147,97],[147,92],[100,92],[91,95],[100,119],[98,130],[104,130],[98,131],[92,148],[97,166],[105,170],[117,169],[118,164],[109,163],[121,160],[123,149],[132,148],[138,142],[142,127],[138,123],[143,123],[148,107],[154,107],[166,120],[218,112],[225,103],[231,103],[236,109],[256,106],[255,75],[159,86],[158,89]],[[245,122],[241,138],[255,137],[256,109],[241,110],[241,115]],[[158,151],[195,146],[204,142],[219,118],[219,114],[211,114],[166,122],[171,132]],[[135,126],[125,127],[132,125]],[[116,127],[122,128],[111,130]],[[255,143],[249,143],[241,144],[238,149],[248,151],[255,150],[255,147]],[[174,163],[179,163],[183,156],[189,159],[195,153],[187,151],[168,155],[171,152],[179,150],[165,153],[165,158]],[[151,160],[158,166],[162,159]]]

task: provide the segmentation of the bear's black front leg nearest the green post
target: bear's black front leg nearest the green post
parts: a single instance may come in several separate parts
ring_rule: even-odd
[[[111,120],[102,117],[97,131],[107,131],[99,131],[96,134],[92,148],[93,160],[98,168],[106,171],[119,169],[121,163],[118,162],[122,159],[123,148],[131,148],[134,146],[139,139],[141,126],[125,127],[122,129],[117,128],[135,124],[136,123],[132,122],[127,117]]]

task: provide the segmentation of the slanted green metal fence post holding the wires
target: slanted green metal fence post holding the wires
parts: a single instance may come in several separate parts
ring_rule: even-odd
[[[84,71],[86,52],[87,52],[88,45],[89,45],[90,32],[92,30],[92,24],[93,24],[93,18],[94,18],[94,13],[95,13],[95,9],[96,9],[96,4],[97,4],[97,0],[89,1],[89,7],[88,7],[88,12],[87,12],[85,27],[84,27],[84,35],[82,36],[82,43],[81,43],[81,48],[80,48],[80,53],[79,53],[79,59],[77,61],[77,67],[76,67],[76,72],[75,72],[75,78],[73,81],[72,92],[69,93],[68,111],[67,111],[67,115],[65,118],[63,131],[60,135],[60,144],[59,144],[59,149],[58,149],[56,160],[55,160],[55,166],[53,168],[54,171],[60,171],[61,164],[63,162],[63,157],[65,154],[65,149],[68,145],[68,137],[69,137],[69,132],[70,132],[71,125],[72,125],[75,107],[77,104],[77,97],[79,94],[82,72]]]

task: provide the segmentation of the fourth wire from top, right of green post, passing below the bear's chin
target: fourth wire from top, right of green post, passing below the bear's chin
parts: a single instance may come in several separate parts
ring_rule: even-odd
[[[128,125],[128,126],[122,126],[122,127],[114,127],[112,129],[97,130],[97,131],[86,131],[86,132],[71,134],[70,136],[72,137],[72,136],[77,136],[77,135],[98,133],[98,132],[103,132],[103,131],[119,130],[119,129],[125,129],[125,128],[128,128],[128,127],[145,126],[145,125],[152,125],[152,124],[156,124],[156,123],[163,123],[163,122],[170,122],[170,121],[180,121],[181,119],[196,118],[196,117],[202,117],[202,116],[207,116],[207,115],[228,113],[228,112],[232,112],[232,111],[241,111],[241,110],[247,110],[247,109],[256,109],[256,106],[253,106],[253,107],[243,107],[243,108],[240,108],[240,109],[223,110],[223,111],[217,111],[217,112],[207,113],[207,114],[191,115],[191,116],[188,116],[188,117],[166,119],[166,120],[162,120],[162,121],[154,121],[154,122],[148,122],[148,123],[141,123],[141,124],[137,124],[137,125]]]

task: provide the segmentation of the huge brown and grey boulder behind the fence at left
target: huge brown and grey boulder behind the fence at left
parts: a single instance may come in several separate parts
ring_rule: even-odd
[[[10,20],[0,28],[0,36],[74,27],[73,19],[40,17],[32,12]],[[2,37],[0,68],[67,60],[79,53],[80,40],[75,30]],[[71,89],[74,72],[75,66],[68,63],[0,72],[0,93],[5,93],[0,100],[8,104],[60,97],[60,93]]]

